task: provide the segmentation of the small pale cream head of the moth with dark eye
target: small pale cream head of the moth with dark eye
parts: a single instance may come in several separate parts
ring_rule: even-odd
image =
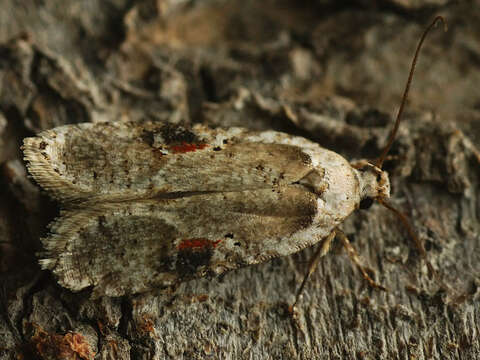
[[[359,173],[360,209],[370,208],[374,200],[390,197],[390,179],[386,171],[365,160],[352,165]]]

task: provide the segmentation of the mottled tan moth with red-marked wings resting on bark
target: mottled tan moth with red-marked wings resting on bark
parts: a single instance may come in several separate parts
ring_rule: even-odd
[[[350,164],[281,132],[148,121],[66,125],[26,138],[29,173],[62,205],[40,264],[70,290],[115,297],[321,243],[310,274],[335,235],[348,248],[338,226],[353,211],[390,196],[381,167],[408,86],[375,163]]]

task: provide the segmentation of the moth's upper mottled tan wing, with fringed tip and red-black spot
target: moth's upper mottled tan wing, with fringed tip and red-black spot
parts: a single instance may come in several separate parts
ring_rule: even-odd
[[[192,132],[154,122],[85,123],[25,139],[24,154],[30,174],[63,203],[269,188],[311,171],[310,157],[298,146],[274,143],[274,137],[245,142],[245,133]]]

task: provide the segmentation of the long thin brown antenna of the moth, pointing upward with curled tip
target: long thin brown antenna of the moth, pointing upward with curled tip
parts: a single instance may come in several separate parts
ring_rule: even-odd
[[[400,103],[400,108],[398,109],[397,118],[395,119],[395,124],[393,126],[392,131],[390,132],[387,145],[383,149],[380,157],[375,162],[375,166],[377,166],[379,169],[382,168],[383,162],[385,161],[385,158],[387,157],[387,154],[392,147],[393,141],[395,140],[395,136],[397,135],[398,127],[402,119],[403,109],[407,102],[408,92],[410,90],[410,85],[412,83],[413,73],[415,71],[415,66],[417,65],[418,55],[420,54],[420,49],[422,48],[423,42],[427,37],[427,34],[439,21],[443,23],[444,31],[447,31],[447,21],[443,18],[443,16],[439,15],[435,17],[432,23],[425,29],[425,31],[422,34],[422,37],[420,38],[420,41],[418,42],[417,49],[415,50],[415,55],[413,56],[412,64],[410,66],[410,73],[408,74],[407,84],[405,85],[405,90],[403,91],[402,102]]]

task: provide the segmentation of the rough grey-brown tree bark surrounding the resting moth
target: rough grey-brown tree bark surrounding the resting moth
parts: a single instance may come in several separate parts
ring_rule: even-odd
[[[0,12],[0,359],[475,359],[480,357],[480,9],[474,1],[3,0]],[[27,178],[25,136],[149,118],[300,134],[378,156],[411,55],[436,14],[385,163],[446,286],[380,205],[288,313],[315,249],[173,293],[89,300],[41,271],[58,214]]]

